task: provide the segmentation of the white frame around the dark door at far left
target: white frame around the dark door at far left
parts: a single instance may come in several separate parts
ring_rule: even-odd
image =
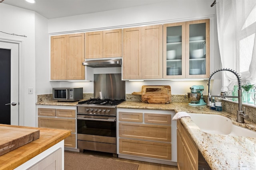
[[[18,44],[18,65],[19,65],[19,68],[18,68],[18,71],[19,71],[19,75],[18,75],[18,90],[19,90],[19,96],[18,96],[18,100],[19,100],[19,109],[18,109],[18,121],[19,121],[19,125],[22,126],[24,125],[24,102],[21,102],[21,101],[24,101],[24,90],[23,90],[23,87],[24,87],[24,76],[21,76],[21,75],[24,75],[24,70],[23,70],[23,63],[24,63],[24,58],[22,56],[22,43],[23,41],[22,40],[17,40],[17,39],[5,39],[5,38],[1,38],[0,37],[0,42],[4,42],[4,43],[15,43],[15,44]],[[22,100],[23,99],[23,100]]]

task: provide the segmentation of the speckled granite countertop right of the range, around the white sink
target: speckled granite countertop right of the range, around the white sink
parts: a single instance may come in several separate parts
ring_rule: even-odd
[[[213,111],[207,106],[190,106],[188,103],[146,104],[141,102],[123,102],[118,108],[159,109],[186,111],[187,113],[218,114],[228,117],[232,123],[256,131],[256,124],[250,121],[236,122],[236,115],[225,111]],[[205,133],[190,119],[180,119],[195,141],[212,170],[255,170],[256,138]]]

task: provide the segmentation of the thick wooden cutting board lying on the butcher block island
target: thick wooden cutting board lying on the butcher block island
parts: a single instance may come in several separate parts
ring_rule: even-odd
[[[0,125],[0,156],[40,137],[40,130]]]

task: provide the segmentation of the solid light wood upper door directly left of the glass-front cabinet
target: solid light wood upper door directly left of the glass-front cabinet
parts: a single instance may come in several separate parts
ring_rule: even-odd
[[[142,27],[142,79],[163,78],[162,37],[162,25]]]

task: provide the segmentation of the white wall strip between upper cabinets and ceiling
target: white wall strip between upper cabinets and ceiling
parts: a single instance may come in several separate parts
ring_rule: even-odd
[[[49,20],[49,33],[126,27],[200,18],[215,14],[212,0],[170,0],[169,2],[111,10]]]

